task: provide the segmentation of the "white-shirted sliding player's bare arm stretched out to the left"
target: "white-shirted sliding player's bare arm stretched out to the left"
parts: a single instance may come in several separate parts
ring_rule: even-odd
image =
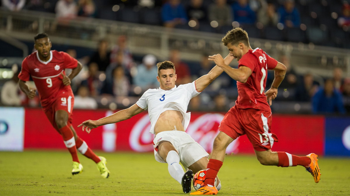
[[[87,133],[90,133],[91,129],[102,126],[102,125],[107,125],[111,123],[116,123],[120,122],[126,119],[130,119],[136,114],[139,114],[143,112],[144,109],[140,108],[136,104],[132,105],[129,108],[126,108],[125,110],[118,111],[110,116],[106,116],[102,119],[99,120],[87,120],[78,125],[78,127],[82,127],[83,131],[86,131]]]

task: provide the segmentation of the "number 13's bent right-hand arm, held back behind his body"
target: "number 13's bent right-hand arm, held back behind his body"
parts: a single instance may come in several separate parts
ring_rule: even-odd
[[[287,68],[282,63],[277,62],[276,67],[272,70],[275,71],[275,78],[273,79],[271,88],[265,92],[266,101],[268,102],[269,105],[272,105],[272,99],[275,99],[277,96],[278,86],[281,84],[282,80],[284,79]]]

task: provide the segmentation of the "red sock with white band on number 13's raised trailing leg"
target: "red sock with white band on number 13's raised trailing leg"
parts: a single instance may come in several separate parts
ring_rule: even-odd
[[[291,167],[302,165],[304,167],[309,166],[311,160],[309,157],[299,157],[287,152],[277,152],[278,154],[278,166],[279,167]]]

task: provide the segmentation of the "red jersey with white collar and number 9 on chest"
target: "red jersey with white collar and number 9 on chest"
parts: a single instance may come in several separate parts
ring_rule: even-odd
[[[39,92],[41,105],[46,107],[54,102],[59,92],[72,91],[70,85],[63,84],[61,72],[65,74],[65,68],[74,69],[77,66],[78,61],[65,52],[51,50],[50,59],[46,62],[40,60],[37,52],[33,52],[23,60],[18,77],[28,81],[31,75]]]

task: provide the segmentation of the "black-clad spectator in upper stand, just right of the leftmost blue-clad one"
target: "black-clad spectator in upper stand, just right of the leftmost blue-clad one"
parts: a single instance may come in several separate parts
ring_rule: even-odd
[[[186,13],[189,20],[196,22],[195,29],[198,29],[201,24],[208,23],[208,12],[207,8],[203,5],[203,0],[191,0],[186,8]]]

